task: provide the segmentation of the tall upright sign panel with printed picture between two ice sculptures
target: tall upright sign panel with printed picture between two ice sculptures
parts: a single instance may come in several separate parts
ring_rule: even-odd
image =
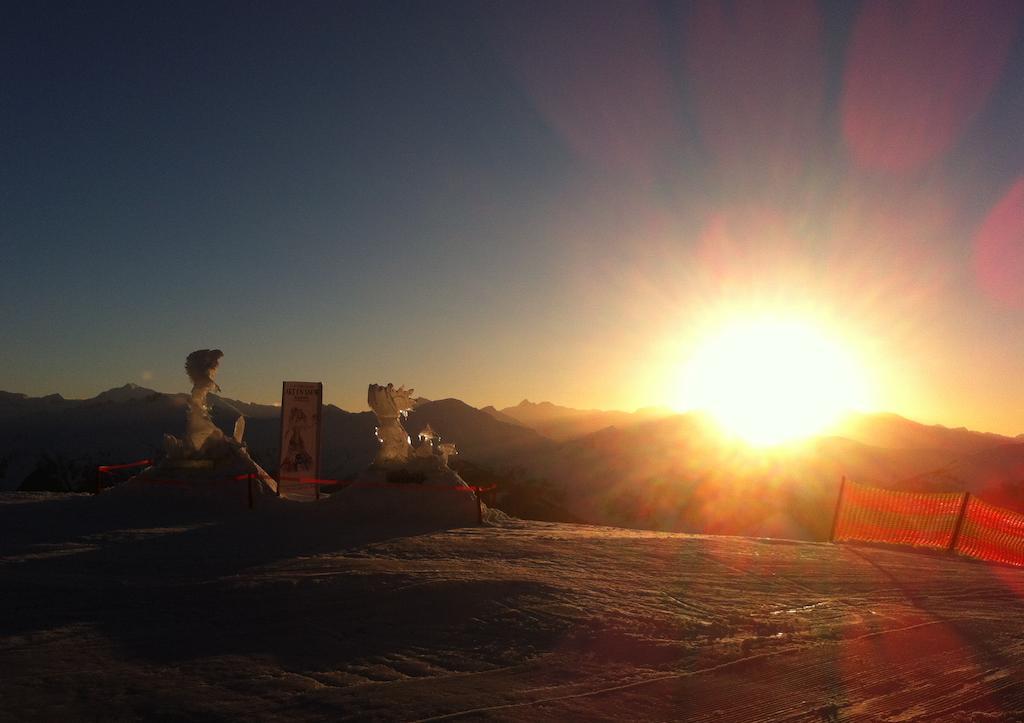
[[[278,482],[281,496],[316,497],[324,385],[321,382],[285,382],[281,390],[281,461]]]

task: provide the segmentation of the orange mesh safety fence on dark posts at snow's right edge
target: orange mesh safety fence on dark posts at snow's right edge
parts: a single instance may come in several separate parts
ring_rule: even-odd
[[[927,547],[1024,565],[1024,514],[968,493],[896,492],[844,480],[831,539]]]

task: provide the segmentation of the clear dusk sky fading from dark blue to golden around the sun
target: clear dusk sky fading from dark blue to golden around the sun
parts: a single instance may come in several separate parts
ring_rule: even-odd
[[[687,409],[770,313],[1024,432],[1019,2],[7,3],[0,62],[0,389]]]

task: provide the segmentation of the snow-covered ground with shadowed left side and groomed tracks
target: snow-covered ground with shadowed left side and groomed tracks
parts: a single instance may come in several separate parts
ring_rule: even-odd
[[[327,504],[0,500],[3,719],[1024,719],[1020,569]]]

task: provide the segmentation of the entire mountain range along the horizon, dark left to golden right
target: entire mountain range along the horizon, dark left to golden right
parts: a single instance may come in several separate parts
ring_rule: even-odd
[[[95,467],[161,454],[180,435],[185,394],[127,384],[90,399],[0,392],[0,490],[90,488]],[[211,395],[214,422],[245,415],[253,457],[276,468],[280,410]],[[423,399],[404,422],[458,445],[471,483],[499,484],[522,517],[678,531],[822,539],[839,480],[969,491],[1024,511],[1024,439],[851,415],[827,434],[766,451],[723,439],[702,415],[574,410],[523,400],[498,410]],[[351,477],[376,453],[372,412],[324,407],[322,476]]]

